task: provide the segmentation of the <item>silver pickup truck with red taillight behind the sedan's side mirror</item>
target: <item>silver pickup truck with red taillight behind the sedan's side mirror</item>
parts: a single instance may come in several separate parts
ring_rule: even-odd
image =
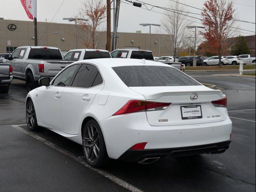
[[[63,60],[59,48],[22,46],[5,59],[13,68],[13,77],[26,81],[28,91],[38,86],[43,77],[54,78],[58,72],[74,61]]]

